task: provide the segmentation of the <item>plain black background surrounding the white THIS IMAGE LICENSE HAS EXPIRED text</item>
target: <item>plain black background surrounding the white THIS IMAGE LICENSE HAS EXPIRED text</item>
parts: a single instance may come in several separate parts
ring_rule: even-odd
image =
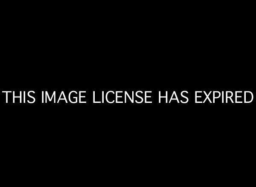
[[[247,7],[42,7],[3,13],[1,91],[152,90],[154,104],[2,102],[5,176],[131,184],[250,178],[255,101],[196,105],[193,96],[255,94]],[[183,90],[187,105],[157,104],[157,91]]]

